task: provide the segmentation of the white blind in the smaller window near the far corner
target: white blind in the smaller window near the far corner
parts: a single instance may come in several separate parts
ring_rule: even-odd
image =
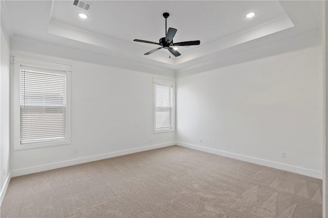
[[[172,128],[173,85],[155,84],[155,129]]]

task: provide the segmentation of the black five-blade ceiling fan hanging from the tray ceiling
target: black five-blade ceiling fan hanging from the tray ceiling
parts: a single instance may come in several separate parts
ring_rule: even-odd
[[[146,41],[146,40],[140,40],[140,39],[134,39],[133,41],[139,41],[139,42],[145,42],[145,43],[150,43],[150,44],[155,44],[155,45],[159,45],[161,47],[157,48],[157,49],[153,49],[147,53],[145,53],[145,55],[149,55],[153,52],[158,51],[159,49],[167,49],[169,50],[169,52],[171,52],[171,54],[173,54],[175,57],[180,56],[181,54],[174,50],[172,48],[172,46],[197,46],[200,44],[199,40],[195,40],[195,41],[181,41],[181,42],[175,42],[173,43],[173,38],[176,34],[177,29],[174,28],[169,28],[169,30],[167,31],[167,18],[170,16],[169,13],[165,12],[163,13],[163,17],[165,18],[165,37],[160,38],[159,39],[159,43],[157,42],[153,42],[153,41]]]

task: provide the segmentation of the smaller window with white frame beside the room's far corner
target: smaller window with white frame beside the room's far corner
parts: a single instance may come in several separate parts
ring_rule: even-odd
[[[174,131],[173,81],[154,79],[154,133]]]

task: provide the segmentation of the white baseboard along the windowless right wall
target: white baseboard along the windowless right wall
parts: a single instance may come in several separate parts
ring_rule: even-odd
[[[312,169],[306,169],[306,168],[278,163],[278,162],[274,162],[274,161],[268,161],[268,160],[263,160],[263,159],[259,159],[259,158],[238,155],[238,154],[235,154],[232,152],[227,152],[227,151],[217,150],[217,149],[207,148],[207,147],[201,147],[198,145],[193,145],[193,144],[188,144],[188,143],[183,143],[183,142],[176,142],[176,144],[179,146],[182,146],[182,147],[188,147],[188,148],[192,148],[195,150],[201,150],[201,151],[209,152],[212,154],[216,154],[216,155],[220,155],[220,156],[224,156],[224,157],[228,157],[228,158],[233,158],[233,159],[237,159],[237,160],[241,160],[241,161],[247,161],[250,163],[255,163],[255,164],[268,166],[268,167],[272,167],[272,168],[276,168],[276,169],[282,169],[285,171],[295,172],[295,173],[298,173],[298,174],[301,174],[304,176],[308,176],[308,177],[322,179],[322,172],[312,170]]]

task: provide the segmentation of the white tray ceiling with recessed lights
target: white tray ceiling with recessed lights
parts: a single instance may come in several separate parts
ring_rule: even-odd
[[[286,37],[321,28],[320,1],[87,1],[89,11],[71,1],[3,1],[12,35],[51,42],[88,52],[180,70],[213,60],[222,51],[253,45],[253,40]],[[81,19],[85,12],[88,19]],[[199,46],[179,48],[181,56],[167,50],[144,53],[157,45],[168,27],[178,31],[174,42],[200,40]],[[253,18],[245,18],[255,12]],[[281,36],[279,36],[281,37]]]

